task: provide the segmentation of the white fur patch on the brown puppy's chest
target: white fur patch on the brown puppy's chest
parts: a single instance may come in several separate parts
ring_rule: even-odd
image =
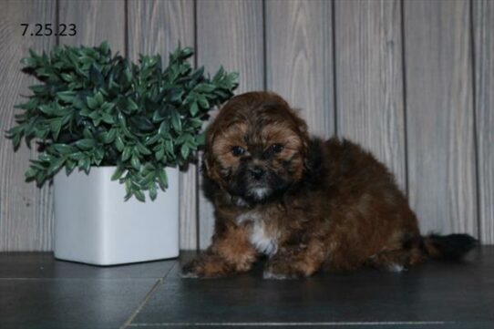
[[[265,230],[262,216],[254,211],[242,213],[237,217],[237,223],[241,224],[244,221],[252,221],[252,233],[249,237],[250,242],[258,252],[262,252],[268,256],[273,256],[278,250],[278,243],[275,234],[268,234]]]

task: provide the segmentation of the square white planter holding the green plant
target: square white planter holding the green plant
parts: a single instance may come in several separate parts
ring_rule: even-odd
[[[110,180],[115,167],[89,175],[60,171],[55,187],[55,257],[95,265],[146,262],[179,255],[179,170],[167,168],[169,188],[156,200],[132,197]]]

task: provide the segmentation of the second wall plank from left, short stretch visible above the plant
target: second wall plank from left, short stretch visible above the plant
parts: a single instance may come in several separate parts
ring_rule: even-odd
[[[99,46],[107,40],[113,52],[125,55],[125,1],[58,1],[60,23],[77,26],[76,36],[60,36],[61,45]]]

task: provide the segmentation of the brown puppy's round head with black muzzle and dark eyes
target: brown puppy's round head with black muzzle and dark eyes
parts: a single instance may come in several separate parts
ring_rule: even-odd
[[[303,177],[306,130],[304,120],[273,93],[232,98],[208,131],[206,173],[243,200],[276,198]]]

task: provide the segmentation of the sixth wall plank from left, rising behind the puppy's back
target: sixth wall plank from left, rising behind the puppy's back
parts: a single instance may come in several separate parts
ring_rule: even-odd
[[[335,2],[336,130],[370,149],[406,190],[400,5]]]

